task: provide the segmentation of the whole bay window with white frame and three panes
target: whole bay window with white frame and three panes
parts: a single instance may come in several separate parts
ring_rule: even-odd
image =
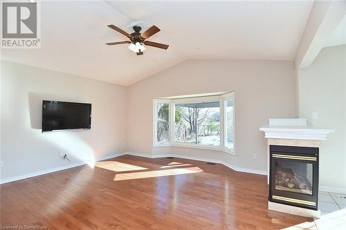
[[[211,148],[234,154],[234,93],[154,99],[154,146]]]

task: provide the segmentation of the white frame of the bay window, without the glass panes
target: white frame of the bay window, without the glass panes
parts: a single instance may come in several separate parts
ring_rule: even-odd
[[[233,149],[227,148],[225,146],[226,138],[227,138],[227,129],[226,129],[226,109],[225,109],[225,103],[226,100],[233,99]],[[175,142],[174,141],[174,128],[175,128],[175,104],[179,103],[201,103],[201,102],[219,102],[220,105],[220,145],[219,146],[210,146],[210,145],[204,145],[204,144],[191,144],[191,143],[181,143],[181,142]],[[156,143],[156,103],[168,103],[169,104],[169,128],[170,128],[170,138],[169,143],[167,144],[158,144]],[[179,99],[153,99],[153,146],[154,147],[165,147],[165,146],[176,146],[176,147],[183,147],[183,148],[200,148],[200,149],[207,149],[207,150],[213,150],[213,151],[223,151],[225,153],[230,153],[232,155],[235,155],[235,92],[225,93],[223,95],[217,95],[217,96],[208,96],[208,97],[186,97],[186,98],[179,98]]]

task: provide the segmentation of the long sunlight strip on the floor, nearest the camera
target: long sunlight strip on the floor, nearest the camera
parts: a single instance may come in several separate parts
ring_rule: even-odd
[[[167,170],[158,170],[158,171],[147,171],[147,172],[138,172],[138,173],[122,173],[117,174],[114,177],[114,181],[119,180],[133,180],[133,179],[143,179],[143,178],[157,178],[167,175],[181,175],[188,173],[201,173],[203,170],[199,167],[190,167],[183,169],[167,169]]]

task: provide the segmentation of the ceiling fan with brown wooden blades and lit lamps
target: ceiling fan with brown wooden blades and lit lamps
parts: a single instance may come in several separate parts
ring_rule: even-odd
[[[145,50],[145,46],[153,46],[156,48],[161,48],[164,50],[167,50],[168,45],[157,43],[154,41],[146,41],[148,37],[152,37],[152,35],[155,35],[157,32],[160,31],[159,28],[156,26],[152,26],[149,29],[145,30],[143,33],[140,33],[140,30],[142,28],[140,26],[134,26],[134,32],[127,33],[126,31],[114,26],[114,25],[108,25],[109,28],[112,28],[113,30],[116,30],[116,32],[120,32],[120,34],[125,35],[130,39],[130,41],[116,41],[116,42],[109,42],[106,43],[109,46],[112,45],[119,45],[119,44],[129,44],[129,49],[133,52],[136,52],[137,55],[143,55],[143,51]],[[145,46],[144,46],[145,45]]]

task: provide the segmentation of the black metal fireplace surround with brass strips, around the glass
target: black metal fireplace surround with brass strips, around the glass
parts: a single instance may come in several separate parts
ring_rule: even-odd
[[[279,146],[271,145],[270,150],[270,168],[269,168],[269,197],[268,200],[280,204],[288,204],[294,207],[301,207],[305,209],[318,210],[318,162],[319,162],[319,148],[315,147],[298,147],[298,146]],[[303,156],[303,157],[316,157],[316,161],[309,160],[294,160],[280,158],[280,160],[290,160],[296,162],[304,162],[313,165],[313,184],[312,184],[312,195],[304,193],[296,193],[293,191],[281,191],[275,189],[275,176],[274,174],[274,162],[277,158],[273,157],[273,154],[281,155],[292,155],[292,156]],[[275,195],[275,198],[273,198]],[[276,199],[280,197],[280,199]],[[281,200],[281,198],[289,198],[294,200],[304,200],[307,202],[314,202],[315,206],[309,204],[302,204],[298,202],[292,202],[288,200]]]

